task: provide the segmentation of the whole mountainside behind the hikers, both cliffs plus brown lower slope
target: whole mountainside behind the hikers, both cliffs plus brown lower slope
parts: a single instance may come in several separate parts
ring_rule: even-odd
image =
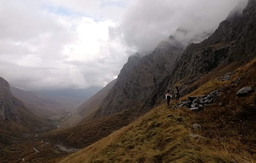
[[[88,121],[84,125],[81,124],[67,130],[52,132],[45,137],[63,141],[74,147],[86,147],[131,123],[132,120],[153,107],[162,105],[165,102],[164,92],[167,88],[173,90],[174,86],[179,86],[182,88],[182,96],[184,96],[215,78],[233,72],[247,61],[252,60],[256,54],[255,45],[249,43],[249,40],[252,42],[256,40],[255,33],[253,33],[255,27],[252,25],[255,23],[255,8],[255,1],[250,0],[243,11],[230,12],[231,15],[224,21],[225,24],[228,24],[227,26],[223,26],[222,22],[208,39],[202,43],[190,44],[181,54],[180,59],[175,60],[176,62],[173,57],[176,58],[175,55],[182,52],[182,49],[177,48],[177,44],[173,46],[173,42],[162,42],[159,44],[164,45],[161,46],[162,48],[157,47],[152,54],[137,60],[134,59],[137,63],[131,64],[132,66],[124,65],[116,83],[101,102],[94,116],[95,121]],[[234,23],[237,24],[237,28],[231,26]],[[238,36],[243,39],[238,39]],[[225,42],[220,43],[220,41]],[[242,47],[245,42],[248,42],[248,48],[245,48],[247,46]],[[169,60],[164,59],[164,56],[170,57]],[[165,64],[163,62],[173,62],[173,64],[168,65],[169,67],[160,66]],[[158,77],[155,78],[156,76]],[[218,82],[212,82],[212,84],[218,85]],[[113,110],[113,108],[116,109]],[[126,114],[130,112],[129,110],[132,110],[132,114]],[[123,121],[116,120],[116,116],[123,116]],[[94,134],[97,136],[92,138]]]

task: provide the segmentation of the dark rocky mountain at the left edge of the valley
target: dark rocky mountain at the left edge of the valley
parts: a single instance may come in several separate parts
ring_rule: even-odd
[[[0,77],[0,142],[8,144],[15,139],[9,137],[24,137],[30,133],[49,128],[48,122],[16,99],[10,90],[9,83]],[[6,139],[8,142],[6,142]]]

